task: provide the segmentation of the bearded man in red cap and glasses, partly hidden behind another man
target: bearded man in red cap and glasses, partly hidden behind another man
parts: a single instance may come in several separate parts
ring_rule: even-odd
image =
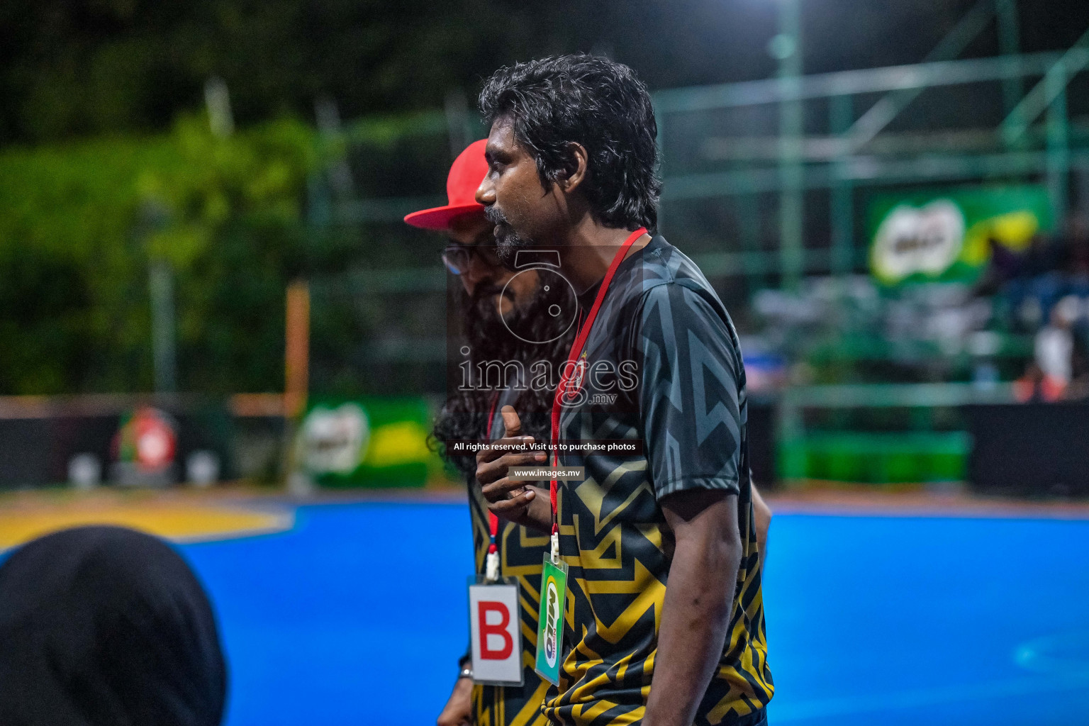
[[[405,222],[425,230],[443,232],[451,239],[451,244],[443,250],[442,259],[448,270],[457,275],[464,291],[460,310],[464,323],[464,342],[469,349],[469,370],[476,371],[480,361],[489,360],[519,360],[525,364],[542,359],[562,361],[571,345],[571,334],[561,334],[556,340],[549,341],[555,331],[544,332],[539,327],[541,321],[548,323],[551,320],[542,313],[542,309],[556,304],[571,305],[573,300],[555,297],[555,293],[563,291],[542,291],[536,270],[516,274],[499,264],[492,236],[493,225],[485,219],[484,207],[474,198],[487,171],[485,144],[486,139],[472,144],[454,161],[446,180],[448,205],[408,214]],[[536,340],[548,342],[535,344],[512,335],[513,330],[524,332],[527,325],[537,329]],[[534,340],[534,336],[529,336],[529,340]],[[490,387],[487,381],[481,383],[484,384],[451,391],[435,428],[435,438],[444,448],[453,440],[490,441],[502,434],[499,409],[503,405],[514,405],[518,401],[525,404],[533,396],[550,399],[552,395],[552,390],[528,390],[524,380],[505,382],[509,385],[493,382],[495,384]],[[541,409],[543,403],[537,402],[527,407]],[[489,411],[492,411],[491,417]],[[489,418],[493,420],[488,420]],[[544,416],[527,421],[526,424],[538,435],[548,433],[548,419]],[[487,570],[491,538],[487,503],[473,476],[476,463],[472,456],[458,457],[448,453],[446,458],[467,478],[476,571],[482,576]],[[536,641],[527,635],[537,631],[536,592],[547,542],[547,538],[506,521],[500,524],[495,537],[497,554],[501,563],[498,574],[501,577],[516,577],[521,585],[523,685],[474,685],[472,656],[466,653],[462,657],[461,673],[453,693],[439,715],[439,726],[469,723],[543,726],[547,723],[540,713],[540,705],[548,684],[534,673]]]

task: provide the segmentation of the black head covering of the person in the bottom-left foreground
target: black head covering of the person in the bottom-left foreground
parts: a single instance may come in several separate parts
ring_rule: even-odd
[[[211,605],[161,540],[81,527],[0,566],[3,726],[218,726],[225,696]]]

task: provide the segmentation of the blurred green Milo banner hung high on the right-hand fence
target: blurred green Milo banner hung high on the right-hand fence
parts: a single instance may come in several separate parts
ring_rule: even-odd
[[[877,195],[869,217],[870,270],[885,285],[972,282],[991,259],[992,239],[1023,251],[1052,229],[1039,185]]]

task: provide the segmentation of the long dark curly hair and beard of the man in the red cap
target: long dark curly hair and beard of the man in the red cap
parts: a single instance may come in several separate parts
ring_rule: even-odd
[[[515,307],[504,317],[494,302],[494,288],[476,291],[472,298],[461,293],[458,307],[465,310],[465,342],[469,347],[468,361],[470,370],[476,370],[477,364],[488,360],[521,361],[527,378],[534,364],[548,362],[553,378],[550,385],[535,390],[523,381],[525,386],[514,403],[522,421],[522,432],[537,441],[547,441],[551,435],[552,398],[555,393],[555,378],[566,360],[575,336],[575,325],[562,330],[564,322],[548,315],[548,309],[560,305],[564,309],[573,309],[575,305],[571,290],[566,285],[550,285],[549,291],[538,288],[534,298],[523,307]],[[527,332],[519,337],[511,330]],[[548,341],[547,343],[530,343],[527,341]],[[458,456],[446,452],[449,441],[487,441],[488,414],[497,395],[502,389],[477,386],[468,390],[453,391],[446,398],[442,410],[435,421],[432,439],[438,442],[443,457],[460,471],[470,475],[476,471],[475,456]]]

